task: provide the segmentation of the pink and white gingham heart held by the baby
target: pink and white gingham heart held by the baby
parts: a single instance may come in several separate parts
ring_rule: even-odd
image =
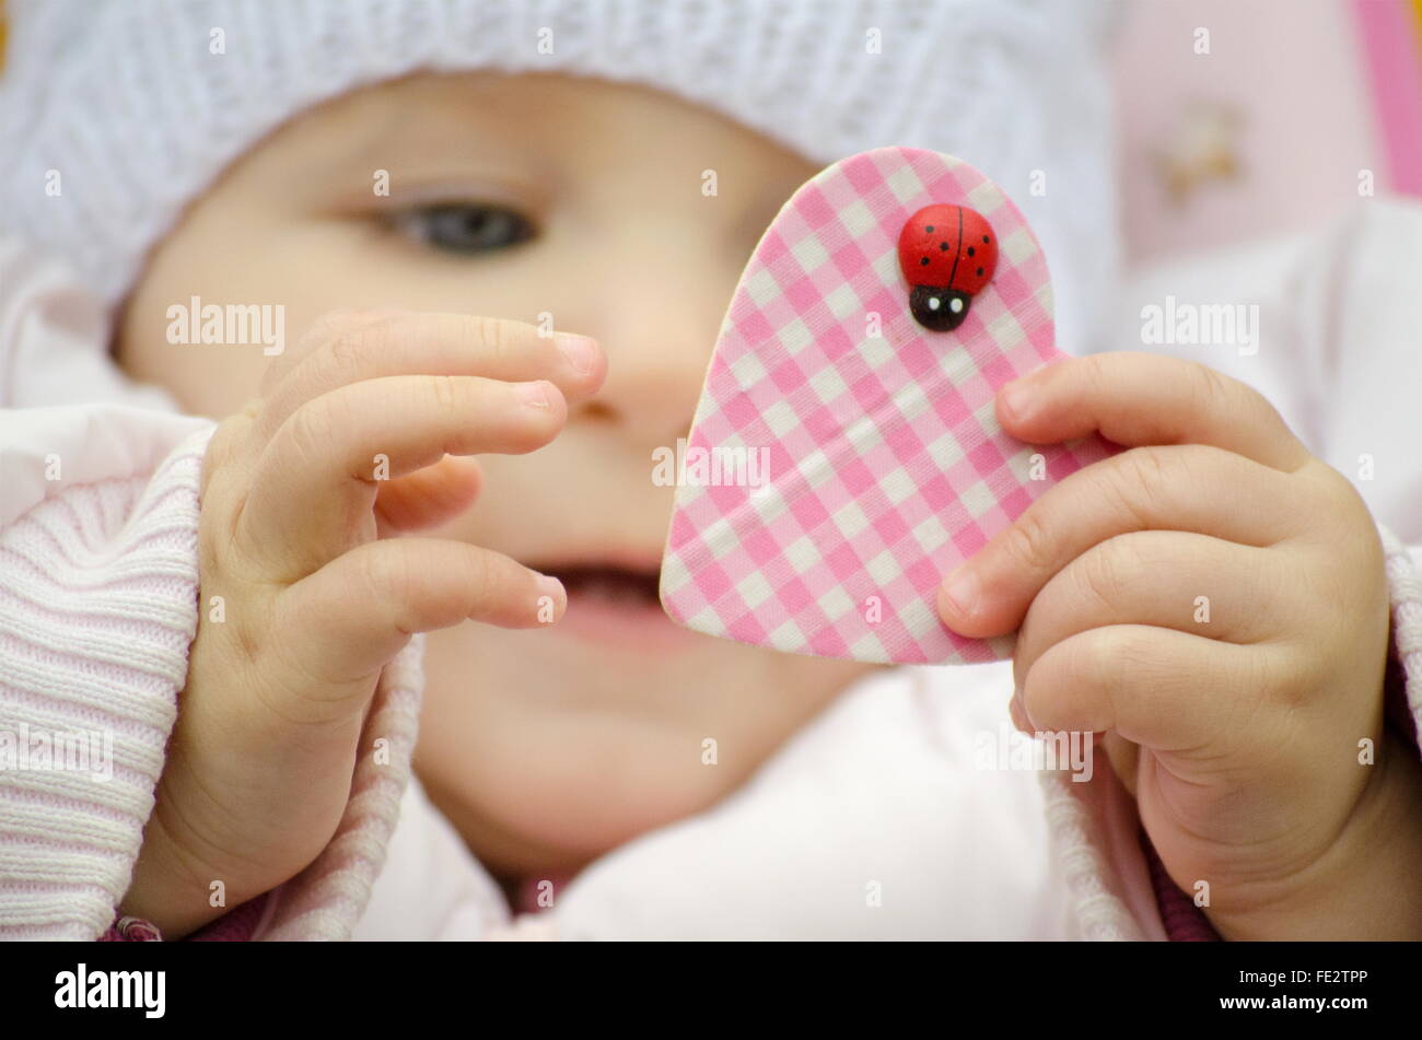
[[[913,320],[899,270],[899,232],[936,202],[975,209],[998,240],[993,281],[951,332]],[[944,628],[937,588],[1055,480],[1115,450],[1096,436],[1034,448],[997,425],[997,389],[1059,357],[1047,261],[997,185],[912,148],[829,166],[765,232],[721,327],[661,565],[667,614],[793,654],[1008,656],[1011,637]],[[695,483],[698,452],[717,449],[768,457],[768,480]]]

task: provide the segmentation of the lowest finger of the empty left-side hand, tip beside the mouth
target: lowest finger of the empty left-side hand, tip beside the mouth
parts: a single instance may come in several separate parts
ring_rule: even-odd
[[[381,538],[331,560],[283,590],[276,629],[290,632],[316,686],[365,689],[414,632],[465,619],[502,628],[553,624],[567,592],[489,548],[444,538]]]

